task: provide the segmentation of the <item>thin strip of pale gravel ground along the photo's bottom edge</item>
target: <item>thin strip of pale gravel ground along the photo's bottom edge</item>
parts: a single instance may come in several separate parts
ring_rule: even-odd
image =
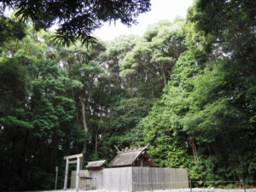
[[[110,190],[79,190],[80,192],[119,192]],[[244,192],[244,189],[192,189],[192,192]],[[75,192],[75,189],[67,190],[41,190],[33,192]],[[143,191],[151,192],[151,191]],[[154,192],[190,192],[190,189],[168,189],[168,190],[154,190]],[[256,189],[246,189],[246,192],[256,192]]]

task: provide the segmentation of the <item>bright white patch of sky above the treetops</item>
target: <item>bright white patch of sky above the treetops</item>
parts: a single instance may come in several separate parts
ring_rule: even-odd
[[[96,29],[94,35],[104,41],[113,40],[120,35],[134,34],[142,36],[146,28],[150,24],[154,24],[160,20],[174,20],[177,16],[183,18],[187,15],[187,9],[191,6],[193,0],[151,0],[151,11],[139,15],[137,18],[137,26],[127,26],[116,21],[116,24],[105,23],[102,28]]]

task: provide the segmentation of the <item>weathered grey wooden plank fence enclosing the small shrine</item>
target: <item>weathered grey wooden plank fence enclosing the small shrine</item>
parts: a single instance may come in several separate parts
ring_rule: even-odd
[[[101,171],[80,171],[80,175],[92,177],[92,189],[117,191],[152,191],[156,189],[189,188],[188,172],[185,169],[158,167],[121,167]],[[84,186],[80,181],[80,186]],[[72,173],[71,187],[75,183]],[[81,188],[82,189],[82,188]]]

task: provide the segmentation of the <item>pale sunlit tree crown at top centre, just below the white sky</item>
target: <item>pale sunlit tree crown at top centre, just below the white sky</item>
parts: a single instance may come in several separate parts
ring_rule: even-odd
[[[120,76],[130,96],[160,96],[175,61],[185,49],[183,23],[160,21],[149,26],[143,38],[120,61]]]

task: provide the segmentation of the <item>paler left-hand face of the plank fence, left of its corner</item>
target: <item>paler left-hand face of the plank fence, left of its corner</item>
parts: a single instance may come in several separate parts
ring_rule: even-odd
[[[104,169],[102,189],[132,191],[131,170],[132,167]]]

